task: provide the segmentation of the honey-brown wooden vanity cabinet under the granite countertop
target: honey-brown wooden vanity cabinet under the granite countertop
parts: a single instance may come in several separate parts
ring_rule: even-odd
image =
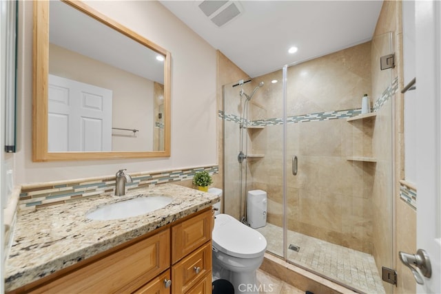
[[[205,209],[10,293],[211,293],[213,222]]]

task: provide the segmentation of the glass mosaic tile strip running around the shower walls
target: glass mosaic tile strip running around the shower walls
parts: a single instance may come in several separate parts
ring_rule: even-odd
[[[378,110],[392,98],[393,94],[398,91],[398,77],[394,78],[391,85],[387,87],[382,93],[380,98],[376,100],[373,105],[372,111],[378,112]],[[322,120],[332,120],[338,118],[350,118],[361,114],[361,108],[346,109],[346,110],[336,110],[332,112],[316,112],[313,114],[302,114],[299,116],[288,116],[287,123],[307,123],[311,121],[322,121]],[[227,121],[232,121],[234,123],[240,123],[240,116],[235,114],[225,114],[222,110],[218,111],[218,117],[223,118]],[[283,125],[283,118],[267,118],[263,120],[252,120],[248,122],[249,126],[260,126],[265,127],[267,125]]]

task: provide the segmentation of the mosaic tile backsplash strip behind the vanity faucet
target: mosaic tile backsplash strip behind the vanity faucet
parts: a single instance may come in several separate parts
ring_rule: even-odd
[[[127,183],[127,189],[136,189],[139,187],[152,187],[167,182],[178,182],[181,180],[189,180],[194,177],[198,171],[208,171],[210,175],[218,174],[218,165],[212,167],[198,167],[192,169],[179,169],[173,171],[158,171],[154,173],[145,172],[132,176],[133,182]],[[19,196],[19,208],[39,209],[50,205],[63,204],[91,198],[97,196],[110,196],[115,191],[114,178],[101,178],[94,180],[81,180],[81,182],[57,182],[56,185],[48,185],[42,187],[33,187],[26,189],[23,187]]]

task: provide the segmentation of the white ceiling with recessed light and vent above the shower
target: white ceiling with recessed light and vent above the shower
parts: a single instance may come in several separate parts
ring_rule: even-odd
[[[203,1],[160,2],[250,77],[279,70],[371,40],[382,1],[211,1],[221,6],[207,17]],[[210,18],[232,3],[237,17],[221,25]],[[289,54],[296,46],[298,51]]]

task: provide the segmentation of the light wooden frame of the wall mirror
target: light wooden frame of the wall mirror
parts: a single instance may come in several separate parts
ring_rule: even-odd
[[[164,60],[164,150],[163,151],[97,151],[97,152],[48,152],[48,76],[49,76],[49,3],[34,1],[34,43],[32,69],[32,160],[34,162],[54,160],[92,160],[109,158],[156,158],[170,156],[170,52],[136,34],[132,30],[106,17],[81,1],[63,1],[73,8],[100,21],[165,56]]]

